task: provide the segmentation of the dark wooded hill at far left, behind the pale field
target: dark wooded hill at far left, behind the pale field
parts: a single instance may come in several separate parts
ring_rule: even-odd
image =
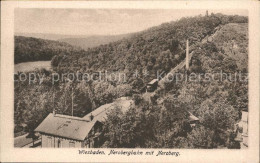
[[[15,36],[14,63],[29,61],[49,61],[58,54],[80,51],[68,43],[33,37]]]

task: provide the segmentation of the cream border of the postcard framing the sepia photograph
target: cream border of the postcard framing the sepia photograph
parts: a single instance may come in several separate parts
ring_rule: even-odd
[[[249,148],[174,149],[175,156],[79,155],[77,149],[13,148],[14,8],[247,9],[249,11]],[[258,162],[259,158],[259,3],[257,1],[9,1],[1,2],[1,161],[60,162]],[[104,149],[109,153],[109,149]],[[142,149],[150,151],[150,149]],[[165,149],[163,149],[165,150]],[[165,150],[166,151],[166,150]]]

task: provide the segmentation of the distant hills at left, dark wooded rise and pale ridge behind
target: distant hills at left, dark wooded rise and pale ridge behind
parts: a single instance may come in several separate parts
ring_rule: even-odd
[[[14,63],[50,61],[55,55],[75,54],[88,48],[108,44],[130,36],[131,34],[114,36],[17,34],[15,36]]]

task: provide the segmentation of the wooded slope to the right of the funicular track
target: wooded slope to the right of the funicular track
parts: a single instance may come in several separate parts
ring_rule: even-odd
[[[247,74],[239,79],[235,73],[248,69],[247,25],[224,25],[211,42],[194,50],[190,70],[180,71],[185,75],[213,74],[215,79],[202,75],[194,81],[165,82],[149,100],[135,95],[136,106],[128,112],[112,111],[105,126],[104,146],[240,148],[234,129],[241,119],[241,109],[248,109],[248,81]],[[230,42],[241,46],[229,48]],[[221,80],[221,71],[231,76]],[[186,110],[200,119],[193,129],[188,125]]]

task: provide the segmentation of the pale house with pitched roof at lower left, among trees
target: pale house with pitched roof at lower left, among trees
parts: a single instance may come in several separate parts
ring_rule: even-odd
[[[42,148],[94,148],[102,143],[101,128],[99,121],[50,113],[35,132],[41,135]]]

